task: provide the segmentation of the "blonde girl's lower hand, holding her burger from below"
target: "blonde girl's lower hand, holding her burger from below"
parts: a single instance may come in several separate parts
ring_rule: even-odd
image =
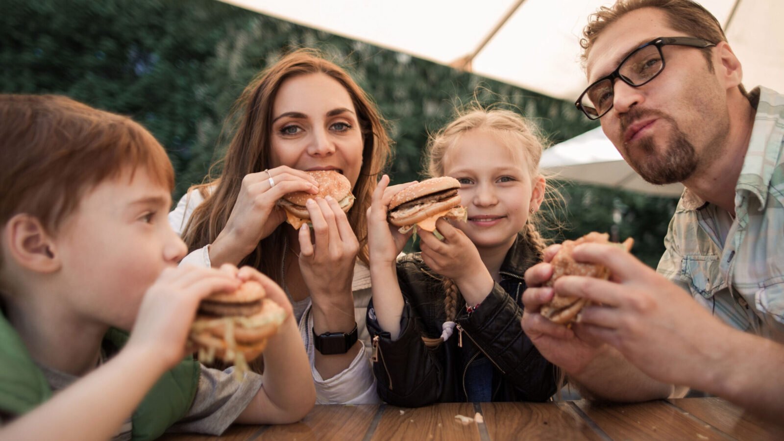
[[[436,221],[436,228],[444,236],[443,241],[430,231],[419,231],[422,260],[434,272],[452,279],[467,303],[481,303],[495,282],[477,247],[463,231],[452,227],[443,217]]]

